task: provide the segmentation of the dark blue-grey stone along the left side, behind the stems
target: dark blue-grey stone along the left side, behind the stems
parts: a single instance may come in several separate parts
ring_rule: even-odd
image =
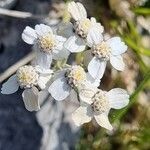
[[[41,7],[39,3],[42,2],[20,0],[14,9],[41,14],[42,11],[35,11]],[[36,22],[0,16],[0,73],[31,51],[31,47],[22,41],[21,32],[26,25],[33,26]],[[24,108],[21,93],[20,90],[12,95],[0,94],[0,150],[40,149],[42,128],[35,113]]]

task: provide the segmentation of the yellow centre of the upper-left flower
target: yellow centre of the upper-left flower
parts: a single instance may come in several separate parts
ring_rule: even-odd
[[[47,34],[38,39],[38,44],[42,51],[51,52],[56,46],[56,40],[52,34]]]

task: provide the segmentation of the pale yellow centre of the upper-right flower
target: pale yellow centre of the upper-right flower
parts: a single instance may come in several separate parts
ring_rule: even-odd
[[[93,49],[92,53],[98,56],[99,58],[105,60],[109,59],[109,54],[111,49],[106,42],[103,41],[97,45],[94,45],[92,49]]]

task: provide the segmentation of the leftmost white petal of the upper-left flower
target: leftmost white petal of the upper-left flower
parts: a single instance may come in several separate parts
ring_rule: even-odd
[[[22,33],[22,39],[28,44],[34,44],[37,34],[34,29],[27,26]]]

